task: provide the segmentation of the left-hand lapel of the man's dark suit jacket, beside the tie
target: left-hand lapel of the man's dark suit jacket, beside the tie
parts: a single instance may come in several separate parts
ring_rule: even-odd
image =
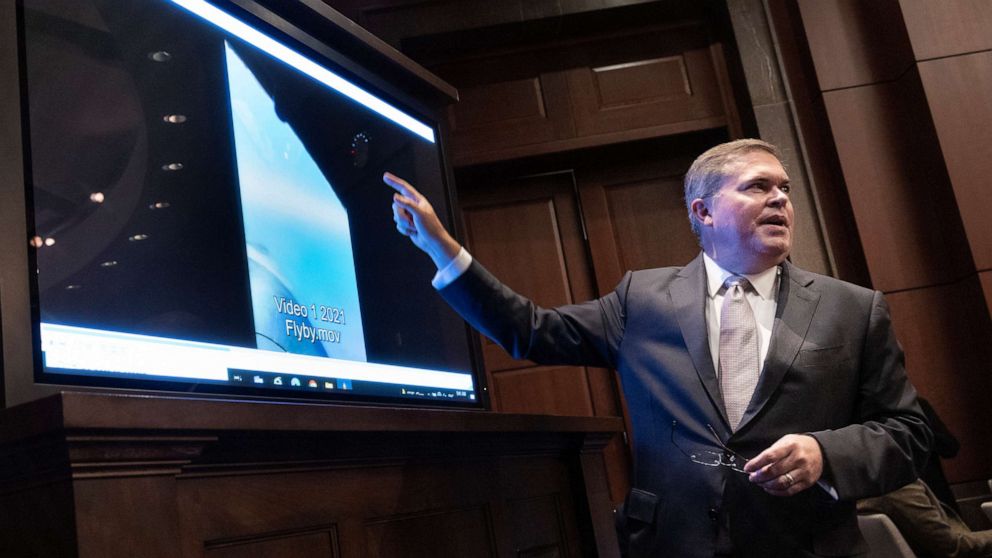
[[[720,395],[720,382],[713,369],[709,330],[706,328],[706,267],[702,253],[682,268],[678,278],[672,282],[669,296],[696,374],[723,422],[728,423]]]

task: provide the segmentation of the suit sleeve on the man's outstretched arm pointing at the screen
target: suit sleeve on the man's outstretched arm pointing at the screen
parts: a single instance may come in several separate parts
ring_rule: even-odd
[[[539,364],[616,367],[630,273],[608,295],[546,309],[499,282],[477,261],[438,291],[469,324],[514,358]]]

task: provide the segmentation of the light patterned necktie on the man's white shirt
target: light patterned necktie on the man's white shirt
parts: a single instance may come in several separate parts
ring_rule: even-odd
[[[747,410],[761,374],[758,327],[744,296],[750,285],[744,277],[728,277],[720,309],[720,391],[734,430]]]

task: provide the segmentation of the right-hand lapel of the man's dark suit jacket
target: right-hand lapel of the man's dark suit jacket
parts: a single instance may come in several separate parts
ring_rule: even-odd
[[[789,262],[782,264],[778,307],[768,356],[738,430],[747,426],[761,412],[799,354],[799,348],[813,320],[813,313],[820,302],[820,294],[808,288],[812,282],[812,274],[793,267]]]

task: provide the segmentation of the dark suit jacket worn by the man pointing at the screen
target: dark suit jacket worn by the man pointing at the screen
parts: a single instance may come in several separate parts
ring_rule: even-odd
[[[441,295],[517,358],[616,368],[633,427],[633,489],[621,518],[631,556],[711,557],[727,537],[748,556],[853,556],[865,549],[855,500],[917,477],[930,431],[906,378],[881,293],[783,264],[768,356],[731,432],[707,341],[702,256],[683,268],[628,272],[594,301],[543,309],[475,262]],[[819,487],[770,496],[689,451],[753,457],[809,433],[825,458]]]

